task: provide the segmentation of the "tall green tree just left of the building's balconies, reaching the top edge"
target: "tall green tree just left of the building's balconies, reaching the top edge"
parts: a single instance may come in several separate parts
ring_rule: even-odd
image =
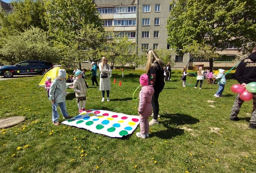
[[[45,3],[50,37],[56,45],[61,43],[69,48],[81,69],[81,61],[87,58],[84,44],[79,40],[82,28],[93,23],[95,28],[102,27],[103,31],[95,4],[91,0],[49,0]]]

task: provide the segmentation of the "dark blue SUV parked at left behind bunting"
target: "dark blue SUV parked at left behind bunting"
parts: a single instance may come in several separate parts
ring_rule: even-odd
[[[47,61],[22,61],[13,66],[0,66],[0,74],[5,78],[25,74],[43,75],[46,70],[52,67],[52,63]]]

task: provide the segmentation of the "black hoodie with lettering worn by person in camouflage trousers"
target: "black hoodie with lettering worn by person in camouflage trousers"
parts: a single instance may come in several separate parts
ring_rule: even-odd
[[[256,52],[251,53],[239,63],[235,77],[240,84],[256,82]]]

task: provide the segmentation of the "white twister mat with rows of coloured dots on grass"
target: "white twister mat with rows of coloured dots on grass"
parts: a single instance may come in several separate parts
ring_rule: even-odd
[[[119,138],[131,134],[139,123],[139,116],[93,109],[62,122],[62,124],[88,129],[94,133]]]

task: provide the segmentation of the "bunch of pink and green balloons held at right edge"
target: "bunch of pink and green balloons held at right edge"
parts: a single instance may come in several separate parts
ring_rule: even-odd
[[[256,92],[256,82],[247,84],[246,88],[240,84],[234,84],[231,86],[231,91],[234,93],[240,93],[240,99],[250,101],[253,97],[252,92]]]

